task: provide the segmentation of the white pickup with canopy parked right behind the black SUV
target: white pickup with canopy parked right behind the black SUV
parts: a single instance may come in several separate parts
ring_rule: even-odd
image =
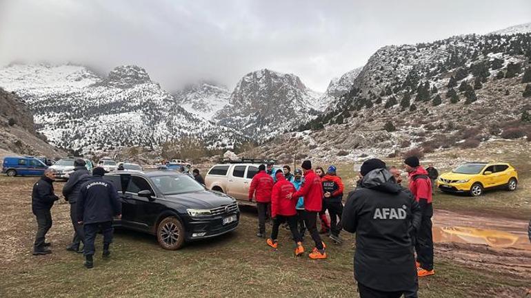
[[[205,176],[206,188],[227,193],[231,197],[240,200],[240,204],[254,204],[248,201],[251,180],[258,173],[259,165],[267,161],[248,161],[250,162],[231,161],[232,163],[215,164]],[[279,169],[282,169],[282,167],[274,166],[273,173]]]

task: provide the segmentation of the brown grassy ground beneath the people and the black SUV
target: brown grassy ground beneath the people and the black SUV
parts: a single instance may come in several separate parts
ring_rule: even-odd
[[[48,239],[54,253],[33,257],[35,223],[29,195],[35,179],[0,178],[0,187],[7,191],[0,198],[6,206],[0,214],[0,297],[357,296],[352,235],[343,235],[342,246],[325,240],[330,256],[325,261],[294,257],[287,231],[281,231],[278,251],[255,237],[254,209],[242,210],[241,224],[233,233],[180,251],[164,251],[150,235],[117,231],[112,257],[101,259],[99,243],[95,267],[86,270],[81,255],[64,250],[71,227],[68,204],[61,203],[52,209],[54,226]],[[57,191],[60,187],[58,183]],[[312,248],[309,240],[305,244]],[[530,286],[519,275],[459,266],[443,253],[437,255],[436,268],[437,275],[421,279],[421,297],[494,297],[523,293]]]

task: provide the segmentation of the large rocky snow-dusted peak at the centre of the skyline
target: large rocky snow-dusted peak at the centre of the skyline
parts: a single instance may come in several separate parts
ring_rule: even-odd
[[[294,74],[257,70],[241,78],[216,118],[221,125],[264,140],[314,118],[320,96]]]

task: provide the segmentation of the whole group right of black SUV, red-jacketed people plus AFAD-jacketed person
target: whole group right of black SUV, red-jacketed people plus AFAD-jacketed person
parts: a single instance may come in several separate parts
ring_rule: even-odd
[[[430,164],[431,166],[431,164]],[[432,238],[432,179],[417,157],[404,160],[408,187],[401,186],[397,167],[379,159],[363,162],[356,189],[343,206],[344,185],[334,166],[325,175],[312,170],[310,160],[294,175],[283,167],[272,178],[272,164],[262,164],[254,176],[248,198],[257,202],[258,237],[265,235],[270,208],[273,220],[266,243],[279,245],[279,227],[287,222],[295,242],[295,255],[304,253],[303,232],[308,229],[315,244],[311,259],[326,259],[326,245],[317,231],[317,219],[330,215],[330,238],[341,243],[344,229],[356,234],[354,278],[361,297],[417,297],[418,277],[434,275]],[[430,167],[432,168],[432,167]],[[430,169],[431,171],[431,169]],[[324,173],[323,173],[324,174]],[[437,178],[435,178],[437,179]],[[276,180],[276,182],[275,182]],[[320,216],[321,215],[321,216]]]

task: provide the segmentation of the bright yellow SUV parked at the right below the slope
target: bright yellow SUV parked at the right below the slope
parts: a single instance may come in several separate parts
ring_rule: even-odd
[[[518,185],[518,173],[504,162],[467,162],[437,179],[437,187],[448,193],[470,193],[477,197],[485,189],[505,187],[514,191]]]

